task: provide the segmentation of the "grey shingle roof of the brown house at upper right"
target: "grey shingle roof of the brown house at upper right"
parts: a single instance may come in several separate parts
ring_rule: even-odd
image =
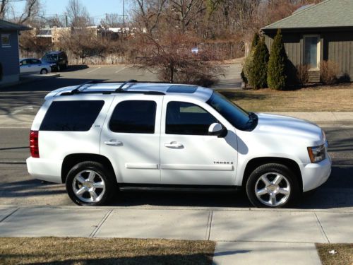
[[[326,0],[297,11],[262,30],[353,27],[353,0]]]

